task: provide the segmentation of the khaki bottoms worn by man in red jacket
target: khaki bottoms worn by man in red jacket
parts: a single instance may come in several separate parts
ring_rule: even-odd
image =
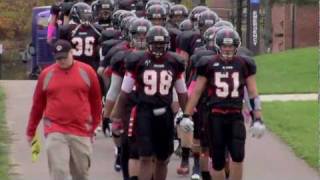
[[[92,145],[89,137],[50,133],[46,152],[51,180],[88,180]]]

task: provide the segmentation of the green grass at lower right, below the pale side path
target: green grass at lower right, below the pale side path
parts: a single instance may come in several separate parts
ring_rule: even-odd
[[[318,167],[318,110],[316,101],[263,104],[267,127],[313,168]]]

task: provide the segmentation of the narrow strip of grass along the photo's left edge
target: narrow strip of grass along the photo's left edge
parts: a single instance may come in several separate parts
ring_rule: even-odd
[[[4,120],[4,93],[0,88],[0,179],[9,179],[9,158],[8,158],[8,131]]]

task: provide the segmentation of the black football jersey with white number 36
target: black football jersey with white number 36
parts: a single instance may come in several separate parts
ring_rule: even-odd
[[[100,27],[90,27],[78,24],[64,25],[60,29],[60,38],[69,41],[73,46],[73,56],[76,60],[89,64],[97,69],[100,62],[99,39]]]

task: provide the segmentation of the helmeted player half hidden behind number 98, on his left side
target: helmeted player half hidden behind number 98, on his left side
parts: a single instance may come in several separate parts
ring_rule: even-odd
[[[112,77],[111,86],[107,94],[106,109],[113,109],[115,101],[121,89],[122,80],[125,76],[125,59],[130,57],[133,51],[145,50],[147,47],[146,33],[151,27],[151,22],[140,18],[129,23],[129,44],[127,49],[119,50],[111,59]],[[128,27],[127,27],[128,28]],[[134,130],[134,110],[133,116],[130,117],[130,111],[135,106],[135,92],[131,93],[130,99],[126,105],[126,114],[124,118],[124,133],[121,135],[121,161],[122,170],[128,168],[129,174],[124,174],[124,177],[130,175],[130,179],[138,177],[139,173],[139,155],[137,152],[137,143]],[[130,121],[129,121],[130,120]],[[117,136],[117,135],[115,135]],[[129,160],[130,159],[130,160]]]

